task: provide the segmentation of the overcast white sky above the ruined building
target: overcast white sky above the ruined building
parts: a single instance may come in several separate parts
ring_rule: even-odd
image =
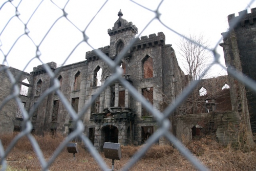
[[[0,0],[0,6],[5,2],[6,1]],[[42,1],[39,8],[29,20],[40,2],[41,0],[12,1],[14,6],[20,3],[17,8],[20,14],[20,20],[18,17],[11,19],[11,17],[15,15],[15,8],[11,3],[6,3],[0,10],[0,33],[2,33],[0,35],[1,63],[3,63],[4,55],[8,54],[8,64],[4,64],[19,70],[24,70],[29,60],[36,56],[35,45],[40,44],[40,59],[43,62],[54,61],[57,65],[60,65],[83,39],[82,33],[78,29],[84,30],[92,17],[105,3],[103,0],[53,0],[52,2],[61,9],[68,2],[65,11],[68,13],[68,19],[77,27],[76,28],[65,17],[57,20],[57,18],[62,16],[63,12],[49,0]],[[155,10],[160,3],[160,1],[156,0],[140,0],[136,2],[151,10]],[[248,13],[250,13],[250,9],[256,7],[256,3],[254,2],[248,6],[249,4],[250,0],[165,0],[160,7],[160,13],[162,14],[160,19],[165,25],[180,34],[205,35],[205,38],[208,39],[212,47],[214,47],[222,40],[221,33],[228,29],[227,15],[235,13],[237,16],[238,12],[244,9],[248,9]],[[86,30],[89,43],[94,48],[98,49],[109,45],[110,36],[108,35],[108,29],[112,29],[114,26],[114,23],[118,19],[117,13],[120,9],[122,10],[123,18],[126,19],[127,22],[133,22],[139,29],[140,36],[163,32],[166,37],[166,44],[173,44],[179,64],[181,65],[177,47],[180,37],[162,26],[158,20],[154,20],[154,22],[141,33],[146,24],[155,16],[155,13],[131,1],[109,0],[106,2],[105,6]],[[9,20],[9,24],[4,29]],[[56,24],[42,41],[49,28],[56,20]],[[25,33],[23,23],[27,24],[29,30],[28,35],[33,41],[27,35],[23,35]],[[17,40],[20,35],[23,36]],[[16,40],[17,42],[14,45]],[[10,51],[12,46],[13,48]],[[86,52],[91,50],[92,48],[90,48],[86,42],[82,42],[82,44],[74,50],[65,65],[85,60]],[[218,48],[218,53],[221,54],[221,62],[224,64],[223,50],[221,47]],[[41,65],[39,60],[33,59],[25,71],[31,72],[33,67],[38,65]],[[216,73],[219,71],[219,68],[215,70]]]

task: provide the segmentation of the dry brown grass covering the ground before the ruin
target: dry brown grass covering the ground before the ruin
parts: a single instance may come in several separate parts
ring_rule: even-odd
[[[1,141],[6,148],[13,136],[3,135]],[[61,136],[52,137],[49,134],[35,136],[46,160],[52,156],[54,149],[64,139]],[[255,170],[255,151],[243,152],[231,146],[223,147],[210,137],[193,141],[187,145],[188,149],[205,164],[210,170]],[[122,146],[122,159],[115,160],[115,170],[120,170],[135,154],[140,146]],[[111,168],[111,159],[105,159]],[[40,163],[33,152],[33,148],[26,137],[20,139],[7,157],[8,170],[40,170]],[[83,148],[73,159],[66,149],[55,159],[50,170],[101,170],[97,162]],[[140,159],[130,170],[196,170],[177,149],[172,146],[154,145],[145,156]]]

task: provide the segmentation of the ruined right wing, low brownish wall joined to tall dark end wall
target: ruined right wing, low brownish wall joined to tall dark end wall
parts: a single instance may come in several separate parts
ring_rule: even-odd
[[[228,70],[236,69],[253,80],[256,80],[255,20],[256,8],[251,9],[251,13],[244,10],[239,12],[239,16],[228,15],[230,29],[222,33],[223,43],[220,44]],[[223,84],[228,87],[222,87]],[[214,133],[221,143],[227,144],[238,140],[241,120],[248,123],[247,126],[251,125],[246,126],[247,130],[256,132],[256,95],[230,73],[227,76],[203,80],[198,88],[202,93],[207,93],[199,98],[193,98],[192,94],[186,103],[193,107],[185,108],[190,110],[190,115],[177,116],[174,122],[175,133],[179,139],[187,142],[200,132]],[[203,113],[205,109],[211,112]]]

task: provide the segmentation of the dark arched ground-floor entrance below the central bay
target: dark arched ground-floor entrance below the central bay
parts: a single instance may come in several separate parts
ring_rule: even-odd
[[[118,129],[116,126],[107,125],[102,128],[104,142],[118,143]]]

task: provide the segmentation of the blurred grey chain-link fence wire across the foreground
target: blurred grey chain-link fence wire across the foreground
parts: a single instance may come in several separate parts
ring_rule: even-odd
[[[32,13],[32,15],[30,16],[30,18],[28,19],[27,23],[23,23],[23,21],[19,18],[20,12],[19,12],[19,5],[22,1],[19,2],[18,5],[14,5],[13,2],[10,1],[6,1],[5,3],[3,3],[3,5],[1,6],[0,10],[3,9],[4,6],[6,5],[12,5],[15,10],[16,13],[15,15],[11,16],[10,19],[8,20],[8,22],[6,23],[5,27],[3,28],[3,30],[0,32],[0,36],[2,35],[2,33],[4,32],[4,30],[7,28],[7,26],[11,23],[11,21],[16,18],[18,20],[20,20],[20,23],[22,23],[24,25],[24,33],[20,34],[14,44],[12,45],[12,47],[10,48],[10,50],[8,51],[8,53],[4,53],[2,50],[0,50],[2,52],[2,54],[4,55],[5,59],[3,61],[3,64],[8,63],[8,56],[10,54],[10,52],[12,51],[14,45],[16,44],[16,42],[20,39],[20,37],[22,36],[27,36],[34,44],[34,47],[36,48],[36,55],[34,56],[34,58],[32,58],[27,65],[25,66],[25,69],[27,68],[27,66],[29,65],[29,63],[34,60],[34,59],[38,59],[39,61],[41,61],[40,56],[41,56],[41,52],[39,51],[39,48],[42,44],[42,42],[44,42],[45,38],[48,36],[48,33],[51,31],[51,29],[53,28],[53,26],[61,19],[61,18],[65,18],[69,23],[71,23],[72,25],[74,25],[76,27],[77,30],[79,30],[82,33],[82,40],[76,45],[76,47],[70,52],[70,55],[67,56],[66,60],[63,61],[63,64],[69,59],[69,57],[71,56],[71,54],[74,52],[74,50],[82,43],[82,42],[86,42],[86,44],[88,44],[92,49],[94,49],[88,42],[88,38],[89,35],[87,35],[87,29],[90,27],[92,21],[94,20],[95,16],[97,16],[97,14],[102,10],[102,8],[104,7],[104,5],[108,2],[105,1],[104,4],[102,4],[101,8],[97,11],[97,13],[95,14],[95,16],[91,19],[91,22],[83,29],[80,30],[78,29],[78,27],[71,22],[71,20],[69,20],[67,18],[67,12],[66,12],[66,6],[70,3],[70,1],[67,1],[66,5],[63,8],[58,7],[56,4],[54,4],[53,1],[51,1],[51,3],[53,3],[54,5],[56,5],[57,8],[59,8],[60,10],[63,11],[62,16],[60,16],[59,18],[57,18],[55,20],[55,22],[52,24],[52,26],[50,27],[50,29],[47,31],[47,33],[44,35],[44,37],[41,39],[41,41],[39,42],[38,45],[36,45],[34,43],[34,40],[30,37],[29,35],[29,28],[28,28],[28,24],[30,24],[31,22],[31,18],[32,16],[35,14],[35,12],[38,10],[38,8],[40,7],[40,5],[42,4],[43,0],[39,3],[39,5],[34,9],[34,12]],[[172,28],[169,28],[165,23],[162,22],[162,20],[160,19],[160,12],[159,12],[159,8],[161,7],[163,1],[161,1],[158,4],[158,7],[156,10],[152,10],[152,9],[148,9],[134,1],[132,1],[135,5],[140,6],[141,8],[145,8],[146,10],[152,12],[155,14],[155,17],[153,17],[150,22],[143,28],[143,30],[145,30],[147,28],[148,25],[150,25],[153,20],[158,20],[164,27],[166,27],[167,29],[169,29],[169,31],[172,31],[182,37],[184,37],[182,34],[180,34],[179,32],[175,31]],[[252,4],[253,1],[251,1],[250,4]],[[250,4],[248,6],[250,6]],[[2,14],[3,15],[3,14]],[[164,15],[164,14],[162,14]],[[232,29],[232,26],[229,28]],[[143,32],[143,31],[142,31]],[[141,32],[141,33],[142,33]],[[140,35],[138,35],[140,36]],[[186,39],[188,39],[187,37],[184,37]],[[0,39],[1,40],[1,39]],[[36,103],[36,105],[34,106],[33,110],[30,110],[29,113],[25,110],[25,108],[23,108],[23,103],[19,98],[19,87],[17,85],[18,79],[21,75],[19,75],[18,77],[14,77],[14,75],[12,75],[12,73],[8,70],[9,67],[2,67],[0,69],[0,72],[6,72],[11,83],[12,83],[12,93],[4,99],[4,101],[2,101],[1,105],[0,105],[0,110],[3,109],[4,105],[6,105],[6,103],[12,99],[15,99],[15,101],[17,102],[17,105],[19,106],[19,112],[22,113],[23,115],[23,119],[24,119],[24,125],[23,127],[25,127],[25,129],[20,132],[13,140],[12,142],[9,144],[9,146],[7,147],[6,150],[4,150],[3,144],[0,141],[0,157],[1,157],[1,165],[2,165],[2,170],[6,170],[7,169],[7,161],[6,158],[8,156],[8,154],[10,153],[11,149],[14,147],[15,143],[22,137],[27,137],[33,148],[34,151],[40,161],[40,164],[42,166],[42,170],[48,170],[50,165],[54,162],[54,160],[56,159],[56,157],[61,153],[62,149],[66,147],[67,143],[70,142],[73,138],[75,137],[80,137],[81,141],[86,144],[86,146],[89,149],[89,152],[92,154],[92,156],[94,157],[94,159],[97,161],[98,165],[102,168],[102,170],[106,170],[108,169],[108,166],[106,165],[106,163],[103,161],[103,159],[101,158],[101,156],[99,155],[98,151],[94,148],[94,145],[91,143],[91,141],[89,140],[89,138],[87,136],[84,136],[82,133],[84,131],[84,125],[82,123],[82,121],[80,120],[80,118],[82,117],[82,114],[85,113],[90,106],[92,105],[93,101],[96,100],[96,98],[100,95],[101,92],[103,92],[112,82],[114,81],[120,81],[123,86],[129,90],[129,92],[132,94],[132,96],[137,99],[138,101],[141,101],[142,105],[145,106],[146,110],[150,111],[152,114],[154,114],[154,117],[157,119],[157,121],[160,123],[159,124],[159,129],[157,130],[157,132],[155,132],[150,138],[148,138],[147,143],[141,147],[139,149],[139,151],[133,156],[133,158],[131,158],[131,160],[126,163],[126,165],[121,169],[121,170],[129,170],[129,168],[131,168],[141,157],[143,157],[143,155],[146,153],[147,149],[150,148],[156,141],[159,140],[160,137],[165,137],[170,143],[174,144],[175,147],[179,150],[179,152],[181,154],[183,154],[185,156],[185,158],[190,161],[197,169],[199,170],[207,170],[207,168],[200,163],[195,156],[193,156],[188,149],[172,134],[169,132],[169,127],[172,123],[170,123],[170,121],[166,118],[170,117],[170,115],[175,111],[175,109],[179,106],[179,104],[182,103],[182,101],[184,101],[186,99],[186,97],[193,92],[193,90],[196,88],[196,86],[199,83],[199,80],[195,80],[193,82],[191,82],[184,90],[183,92],[175,99],[175,102],[172,105],[169,105],[163,113],[161,113],[158,110],[153,109],[153,105],[148,103],[148,101],[143,98],[138,91],[131,86],[131,84],[125,80],[124,78],[122,78],[122,69],[119,66],[119,63],[121,61],[121,59],[123,58],[123,56],[125,55],[125,53],[127,51],[130,50],[130,48],[135,44],[136,39],[131,40],[129,46],[126,46],[125,48],[123,48],[123,50],[120,52],[120,54],[116,57],[115,60],[111,60],[108,56],[106,56],[104,53],[102,53],[99,50],[95,50],[95,53],[97,53],[97,55],[105,62],[107,63],[112,69],[113,71],[115,71],[115,73],[105,81],[105,83],[101,86],[101,88],[99,89],[99,91],[96,93],[96,96],[93,96],[93,98],[91,99],[91,101],[86,104],[84,106],[84,108],[78,113],[76,114],[76,112],[72,109],[68,99],[62,94],[62,92],[59,90],[59,80],[56,77],[56,73],[58,73],[58,71],[53,72],[50,67],[48,65],[44,65],[44,68],[47,72],[47,74],[50,76],[51,80],[52,80],[52,86],[46,90],[37,100],[38,103]],[[208,49],[208,51],[211,51],[212,54],[214,54],[214,61],[205,69],[204,73],[202,73],[202,75],[200,76],[201,78],[204,76],[204,74],[215,64],[220,65],[223,69],[226,69],[225,66],[221,65],[221,63],[219,63],[219,57],[220,55],[218,53],[216,53],[216,49],[219,46],[219,43],[222,41],[222,38],[220,38],[219,42],[216,44],[214,49]],[[196,42],[194,42],[196,44]],[[1,43],[2,45],[2,43]],[[1,46],[0,45],[0,46]],[[202,46],[202,45],[200,45]],[[202,46],[203,47],[203,46]],[[206,47],[203,47],[206,48]],[[43,64],[43,62],[41,61],[41,63]],[[253,90],[254,92],[256,92],[256,82],[248,77],[245,77],[242,73],[239,73],[235,70],[229,70],[228,73],[236,78],[237,80],[239,80],[240,82],[242,82],[243,84],[245,84],[247,87],[249,87],[251,90]],[[38,107],[39,103],[45,98],[47,97],[49,94],[56,92],[57,96],[59,96],[59,99],[61,99],[63,105],[65,105],[66,110],[69,112],[70,116],[72,117],[73,121],[75,122],[76,126],[75,126],[75,130],[67,136],[67,138],[58,146],[58,148],[56,149],[56,151],[53,153],[53,156],[50,158],[50,160],[47,162],[46,159],[44,158],[44,156],[42,155],[41,149],[38,145],[38,143],[36,142],[35,138],[33,137],[33,135],[31,134],[32,131],[32,123],[31,123],[31,117],[34,113],[34,111],[36,110],[36,108]]]

